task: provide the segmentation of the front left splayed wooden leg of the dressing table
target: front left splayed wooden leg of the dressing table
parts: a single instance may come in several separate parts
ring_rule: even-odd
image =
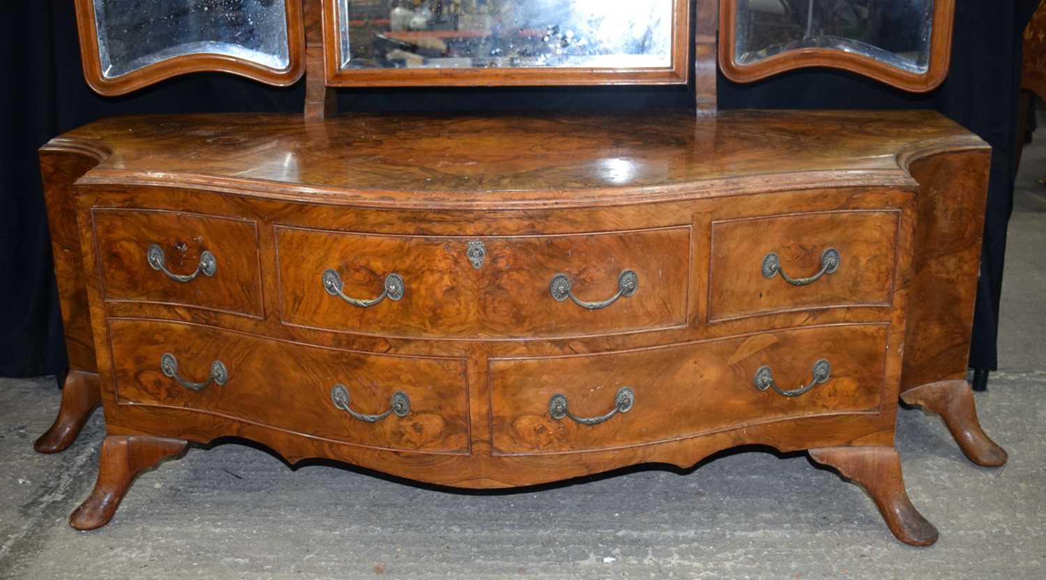
[[[182,453],[187,443],[183,439],[144,435],[106,437],[98,481],[87,500],[69,516],[69,525],[77,530],[94,530],[109,524],[138,472]]]

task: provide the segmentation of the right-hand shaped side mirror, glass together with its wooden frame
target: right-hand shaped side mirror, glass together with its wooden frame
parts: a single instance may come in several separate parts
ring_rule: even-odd
[[[928,90],[947,70],[952,11],[953,0],[725,0],[723,69],[753,80],[831,66]]]

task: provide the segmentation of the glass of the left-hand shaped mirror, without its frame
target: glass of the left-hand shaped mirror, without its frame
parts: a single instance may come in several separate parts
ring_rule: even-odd
[[[183,54],[290,66],[285,0],[94,0],[101,74],[114,78]]]

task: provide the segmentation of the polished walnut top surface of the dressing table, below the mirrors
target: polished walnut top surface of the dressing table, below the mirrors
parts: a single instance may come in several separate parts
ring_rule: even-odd
[[[116,117],[55,138],[100,163],[79,183],[207,185],[334,204],[664,201],[802,187],[912,186],[911,158],[984,148],[929,111]]]

